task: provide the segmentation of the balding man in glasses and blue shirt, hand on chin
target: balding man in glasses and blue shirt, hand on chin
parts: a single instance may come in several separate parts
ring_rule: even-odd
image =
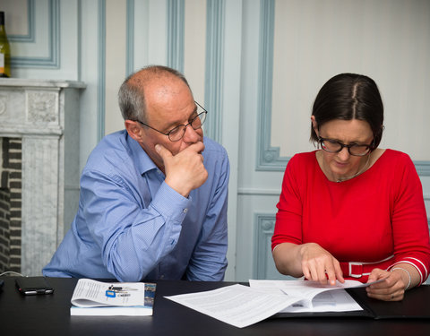
[[[43,274],[223,280],[229,164],[203,138],[207,112],[165,66],[133,73],[118,96],[125,130],[91,152],[78,212]]]

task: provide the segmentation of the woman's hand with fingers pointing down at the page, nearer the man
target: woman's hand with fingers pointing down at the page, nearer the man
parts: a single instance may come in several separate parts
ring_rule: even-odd
[[[327,282],[335,285],[336,280],[345,282],[338,260],[318,244],[301,245],[299,255],[303,275],[307,280],[319,281],[323,285]]]

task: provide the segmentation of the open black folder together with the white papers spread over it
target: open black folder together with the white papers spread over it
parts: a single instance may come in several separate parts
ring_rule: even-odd
[[[166,297],[238,328],[272,317],[361,316],[366,318],[430,318],[430,286],[411,289],[400,302],[371,299],[357,281],[322,287],[311,281],[249,280],[198,293]],[[326,295],[321,298],[321,295]],[[331,301],[331,298],[334,301]],[[316,302],[319,301],[319,302]]]

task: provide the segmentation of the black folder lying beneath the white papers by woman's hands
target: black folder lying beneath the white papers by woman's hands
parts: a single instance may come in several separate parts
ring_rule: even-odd
[[[379,319],[417,318],[430,319],[430,286],[410,289],[401,301],[381,301],[367,297],[365,288],[345,289],[363,310],[353,312],[278,313],[273,317],[367,317]]]

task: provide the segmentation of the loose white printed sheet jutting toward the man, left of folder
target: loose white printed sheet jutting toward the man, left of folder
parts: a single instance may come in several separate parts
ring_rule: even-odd
[[[260,322],[300,300],[238,284],[166,298],[238,328]]]

